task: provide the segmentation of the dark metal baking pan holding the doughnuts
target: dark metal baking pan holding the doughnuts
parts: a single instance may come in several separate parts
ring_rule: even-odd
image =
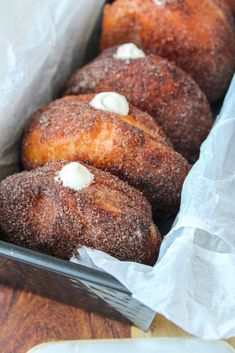
[[[98,53],[101,17],[85,61]],[[0,283],[30,291],[147,330],[155,313],[133,299],[115,278],[103,272],[0,241]]]

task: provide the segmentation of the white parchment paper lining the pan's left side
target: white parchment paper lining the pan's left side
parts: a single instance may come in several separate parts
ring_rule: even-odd
[[[0,0],[0,178],[26,121],[81,64],[104,0]]]

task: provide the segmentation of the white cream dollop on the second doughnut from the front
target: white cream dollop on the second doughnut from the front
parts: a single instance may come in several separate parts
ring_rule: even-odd
[[[129,104],[126,97],[116,92],[98,93],[89,104],[95,109],[104,110],[106,112],[120,115],[128,115],[129,113]]]

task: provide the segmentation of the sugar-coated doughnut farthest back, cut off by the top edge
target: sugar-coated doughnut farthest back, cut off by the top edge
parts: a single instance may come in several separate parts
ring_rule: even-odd
[[[233,30],[212,0],[116,0],[104,9],[101,48],[134,42],[175,61],[214,102],[235,69]]]

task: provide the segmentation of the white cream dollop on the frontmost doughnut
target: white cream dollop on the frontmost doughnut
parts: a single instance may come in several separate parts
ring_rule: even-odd
[[[93,182],[94,176],[82,164],[71,162],[65,165],[54,179],[65,188],[78,191],[87,188]]]

